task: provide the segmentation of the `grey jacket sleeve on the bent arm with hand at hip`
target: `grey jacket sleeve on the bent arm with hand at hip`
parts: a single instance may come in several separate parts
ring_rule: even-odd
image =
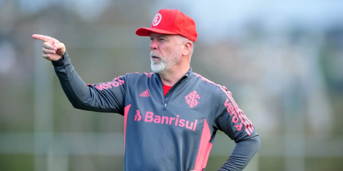
[[[260,139],[252,122],[239,109],[229,91],[221,91],[219,95],[213,130],[223,131],[237,143],[219,171],[243,170],[260,148]]]

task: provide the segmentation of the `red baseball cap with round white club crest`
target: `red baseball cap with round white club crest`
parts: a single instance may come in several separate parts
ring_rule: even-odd
[[[194,20],[179,10],[159,10],[152,21],[151,27],[137,29],[136,35],[150,36],[151,32],[182,35],[194,42],[198,37]]]

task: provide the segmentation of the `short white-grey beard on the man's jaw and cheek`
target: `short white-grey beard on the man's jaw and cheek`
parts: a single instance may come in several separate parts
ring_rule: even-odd
[[[152,56],[159,57],[160,61],[152,60]],[[154,73],[163,74],[176,65],[181,59],[181,49],[175,48],[169,56],[163,57],[154,51],[150,51],[151,70]]]

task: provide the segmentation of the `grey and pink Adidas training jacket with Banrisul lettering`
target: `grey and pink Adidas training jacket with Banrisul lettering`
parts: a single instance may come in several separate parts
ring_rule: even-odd
[[[155,73],[85,84],[67,52],[52,64],[73,107],[124,116],[124,171],[204,170],[217,130],[237,143],[220,171],[243,170],[259,149],[231,92],[191,68],[164,96]]]

